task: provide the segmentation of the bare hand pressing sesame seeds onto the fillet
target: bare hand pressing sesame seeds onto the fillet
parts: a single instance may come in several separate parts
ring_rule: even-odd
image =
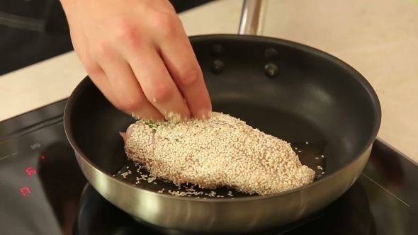
[[[203,74],[168,0],[62,0],[77,53],[116,108],[145,120],[204,118]]]

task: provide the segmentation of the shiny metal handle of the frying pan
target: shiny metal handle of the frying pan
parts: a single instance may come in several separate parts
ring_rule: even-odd
[[[267,0],[244,0],[239,35],[261,35],[264,29]]]

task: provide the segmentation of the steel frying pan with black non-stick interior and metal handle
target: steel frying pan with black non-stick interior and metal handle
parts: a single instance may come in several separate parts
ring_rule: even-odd
[[[158,193],[162,188],[175,190],[172,183],[132,185],[113,177],[130,164],[118,132],[135,120],[114,108],[87,76],[69,97],[64,128],[81,170],[106,200],[167,233],[242,233],[307,217],[353,185],[380,127],[375,91],[358,71],[332,55],[254,35],[260,32],[262,6],[262,1],[244,1],[239,32],[253,35],[198,35],[190,37],[191,45],[213,110],[302,149],[297,150],[300,161],[317,172],[317,179],[272,195],[233,192],[232,200],[176,197]],[[132,172],[135,177],[135,169]]]

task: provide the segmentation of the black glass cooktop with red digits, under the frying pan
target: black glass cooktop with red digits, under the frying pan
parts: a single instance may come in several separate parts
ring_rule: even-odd
[[[0,234],[179,234],[140,224],[87,183],[62,126],[65,100],[0,122]],[[418,234],[418,166],[377,140],[356,183],[293,224],[252,234]]]

